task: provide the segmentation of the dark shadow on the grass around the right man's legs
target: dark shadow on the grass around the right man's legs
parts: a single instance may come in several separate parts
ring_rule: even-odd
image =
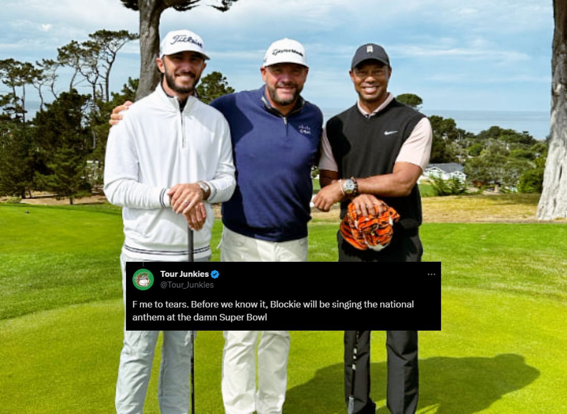
[[[472,414],[490,407],[509,392],[534,382],[539,370],[518,354],[485,357],[433,357],[420,360],[418,409],[437,414]],[[386,400],[386,362],[371,365],[372,398]],[[287,391],[285,412],[346,413],[342,364],[320,369],[309,382]],[[380,407],[377,414],[390,411]]]

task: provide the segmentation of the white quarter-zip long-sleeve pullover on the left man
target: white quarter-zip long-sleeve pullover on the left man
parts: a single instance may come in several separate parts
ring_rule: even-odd
[[[195,258],[209,256],[210,204],[228,200],[236,185],[226,119],[194,97],[181,111],[160,85],[123,114],[108,135],[104,166],[104,193],[123,207],[122,251],[147,261],[187,260],[187,223],[166,193],[178,183],[205,181],[207,218],[193,248]]]

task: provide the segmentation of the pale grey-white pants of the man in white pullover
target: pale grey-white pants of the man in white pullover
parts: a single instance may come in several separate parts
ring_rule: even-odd
[[[206,259],[205,259],[206,260]],[[126,262],[139,261],[120,255],[122,288],[126,287]],[[124,293],[124,300],[126,294]],[[191,373],[191,331],[162,331],[158,400],[162,414],[187,414]],[[141,414],[150,381],[151,365],[159,331],[126,331],[116,382],[116,412]]]

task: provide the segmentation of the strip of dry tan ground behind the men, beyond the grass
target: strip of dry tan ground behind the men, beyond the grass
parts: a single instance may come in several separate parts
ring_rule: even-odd
[[[3,202],[7,197],[0,198]],[[500,194],[500,195],[459,195],[446,197],[425,197],[423,207],[424,223],[538,223],[536,210],[539,194]],[[33,198],[21,201],[25,204],[62,205],[69,199],[56,199],[52,194],[34,193]],[[74,200],[75,204],[105,203],[103,194]],[[221,217],[219,204],[213,206],[215,217]],[[316,221],[338,221],[338,205],[331,211],[322,212],[312,208],[311,216]],[[567,220],[555,220],[567,222]]]

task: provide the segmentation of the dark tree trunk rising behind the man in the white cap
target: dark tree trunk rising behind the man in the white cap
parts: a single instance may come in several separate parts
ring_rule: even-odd
[[[159,53],[159,18],[166,6],[162,0],[138,1],[140,26],[140,80],[136,101],[149,95],[159,83],[155,58]]]

